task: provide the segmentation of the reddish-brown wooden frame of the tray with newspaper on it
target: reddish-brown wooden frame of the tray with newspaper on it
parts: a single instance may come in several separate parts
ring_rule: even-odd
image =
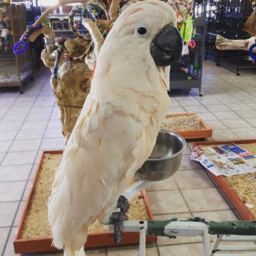
[[[249,143],[256,143],[255,140],[233,140],[233,141],[213,141],[213,142],[195,142],[193,143],[193,149],[200,145],[226,145],[230,143],[235,144],[249,144]],[[256,216],[254,217],[252,213],[248,210],[248,208],[245,206],[245,204],[242,202],[240,197],[235,193],[235,191],[231,188],[229,183],[225,180],[225,178],[220,176],[215,176],[213,173],[208,172],[209,175],[212,177],[212,179],[217,183],[219,188],[222,190],[222,192],[225,194],[227,199],[230,201],[230,203],[233,205],[233,207],[236,209],[238,214],[243,220],[255,220]]]

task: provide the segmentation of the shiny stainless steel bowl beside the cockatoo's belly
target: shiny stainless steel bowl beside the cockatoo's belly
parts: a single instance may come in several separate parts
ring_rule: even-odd
[[[161,130],[150,158],[135,177],[144,181],[161,181],[172,176],[179,168],[186,141],[178,134]]]

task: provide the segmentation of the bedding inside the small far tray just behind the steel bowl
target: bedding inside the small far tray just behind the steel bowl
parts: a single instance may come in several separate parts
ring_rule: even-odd
[[[165,117],[161,123],[161,129],[168,131],[205,130],[201,120],[195,115],[179,115]]]

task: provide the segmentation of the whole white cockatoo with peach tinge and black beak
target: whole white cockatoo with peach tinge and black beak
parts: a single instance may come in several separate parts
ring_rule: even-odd
[[[138,2],[121,13],[100,49],[49,198],[53,244],[64,255],[84,255],[88,225],[109,223],[153,150],[170,107],[169,65],[182,51],[176,25],[166,3]]]

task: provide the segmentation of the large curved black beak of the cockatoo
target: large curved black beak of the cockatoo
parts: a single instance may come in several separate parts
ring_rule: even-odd
[[[182,45],[180,32],[169,24],[154,37],[150,53],[157,66],[169,66],[180,58]]]

